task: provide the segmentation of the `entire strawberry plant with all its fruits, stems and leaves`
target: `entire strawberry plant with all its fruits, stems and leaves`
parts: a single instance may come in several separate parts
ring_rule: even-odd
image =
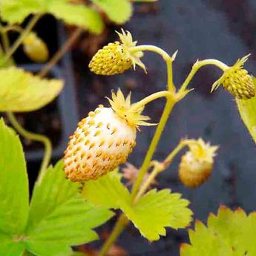
[[[50,165],[50,140],[45,135],[26,131],[13,113],[35,111],[59,95],[64,81],[44,77],[84,30],[102,32],[104,23],[99,10],[105,12],[108,19],[121,24],[130,18],[132,5],[128,0],[91,0],[90,5],[68,0],[0,1],[1,19],[6,22],[0,26],[0,110],[6,112],[10,124],[22,137],[45,145],[45,156],[29,198],[22,144],[16,131],[0,120],[0,255],[72,255],[72,246],[98,239],[94,229],[115,214],[116,224],[99,249],[100,256],[107,255],[128,223],[133,223],[151,242],[165,236],[167,228],[189,226],[193,215],[189,201],[170,188],[157,190],[155,180],[186,148],[179,165],[181,183],[190,188],[206,183],[214,168],[218,146],[202,138],[183,138],[166,152],[165,160],[154,160],[154,152],[173,108],[191,94],[193,89],[188,89],[188,85],[203,66],[214,65],[223,71],[211,91],[222,86],[234,95],[240,114],[255,139],[255,78],[243,67],[249,56],[238,59],[231,67],[217,59],[197,60],[183,84],[177,87],[172,68],[177,51],[170,56],[160,47],[139,45],[131,33],[122,30],[117,33],[119,41],[109,43],[93,56],[89,69],[97,75],[111,76],[130,68],[135,70],[138,65],[147,73],[142,57],[146,51],[151,51],[160,54],[166,64],[163,91],[138,102],[132,102],[131,93],[124,96],[121,90],[112,91],[111,98],[105,102],[108,106],[100,104],[79,122],[63,159]],[[13,53],[22,46],[33,62],[45,62],[49,58],[47,45],[33,31],[45,13],[77,28],[39,74],[33,74],[16,67]],[[24,19],[28,19],[25,27],[22,26]],[[13,44],[8,37],[10,32],[19,34]],[[150,116],[143,115],[143,111],[149,103],[163,97],[166,103],[160,121],[151,123]],[[122,182],[125,175],[120,165],[136,150],[142,126],[157,128],[140,168],[127,167],[127,174],[135,169],[130,190]],[[255,214],[247,217],[241,209],[233,212],[221,207],[217,217],[209,217],[208,228],[196,222],[195,231],[189,231],[191,245],[183,244],[180,254],[254,255],[254,231]]]

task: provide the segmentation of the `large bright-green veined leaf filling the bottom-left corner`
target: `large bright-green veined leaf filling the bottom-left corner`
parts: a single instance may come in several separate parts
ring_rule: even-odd
[[[28,180],[19,137],[0,120],[0,255],[69,256],[70,246],[98,238],[92,229],[113,213],[85,202],[79,184],[65,179],[63,163],[47,169],[28,203]],[[29,253],[29,252],[28,252]]]

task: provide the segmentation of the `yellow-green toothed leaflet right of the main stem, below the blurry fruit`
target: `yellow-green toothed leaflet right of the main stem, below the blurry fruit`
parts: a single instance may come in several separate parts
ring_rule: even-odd
[[[165,227],[185,228],[191,222],[192,211],[188,209],[188,200],[180,194],[171,194],[169,189],[153,189],[142,196],[136,204],[120,200],[119,204],[142,236],[148,240],[159,240],[165,236]]]

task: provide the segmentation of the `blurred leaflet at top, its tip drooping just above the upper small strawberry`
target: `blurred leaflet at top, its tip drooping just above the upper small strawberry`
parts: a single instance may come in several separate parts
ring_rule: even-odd
[[[92,33],[101,33],[104,27],[102,17],[96,11],[82,4],[69,4],[63,1],[53,1],[49,12],[62,19],[67,24],[73,24],[90,30]]]

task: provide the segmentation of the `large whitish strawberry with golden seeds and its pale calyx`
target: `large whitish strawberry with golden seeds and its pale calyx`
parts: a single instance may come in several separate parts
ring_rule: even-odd
[[[121,91],[112,96],[112,108],[100,105],[91,111],[70,137],[64,170],[71,181],[95,180],[125,163],[136,145],[138,123],[147,125],[141,110],[134,113],[134,118],[129,113],[130,96],[125,99]]]

